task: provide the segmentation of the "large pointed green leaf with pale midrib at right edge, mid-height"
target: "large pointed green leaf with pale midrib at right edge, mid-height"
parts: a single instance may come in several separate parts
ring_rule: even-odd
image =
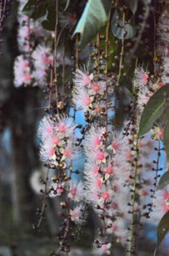
[[[138,136],[143,136],[144,133],[148,132],[154,125],[156,119],[161,117],[161,114],[166,109],[166,95],[168,95],[168,93],[169,84],[166,84],[150,97],[141,116]]]

